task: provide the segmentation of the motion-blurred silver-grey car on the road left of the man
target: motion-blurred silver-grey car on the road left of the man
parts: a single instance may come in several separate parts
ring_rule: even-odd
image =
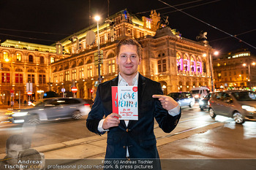
[[[47,120],[66,118],[78,120],[88,115],[90,111],[90,104],[82,98],[46,98],[38,101],[32,108],[13,110],[10,114],[10,121],[37,125]]]

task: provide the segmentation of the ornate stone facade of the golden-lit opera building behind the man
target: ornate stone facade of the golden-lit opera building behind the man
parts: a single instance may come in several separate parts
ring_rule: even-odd
[[[116,45],[121,38],[128,36],[137,39],[143,47],[139,72],[160,82],[165,94],[211,85],[209,54],[212,48],[207,42],[185,39],[175,29],[169,27],[159,28],[160,18],[155,11],[151,12],[150,18],[140,18],[137,15],[129,15],[129,12],[123,10],[109,19],[114,23],[103,21],[99,23],[99,46],[103,51],[101,65],[103,82],[113,79],[118,74]],[[65,88],[68,96],[72,86],[78,88],[76,97],[94,98],[99,77],[98,66],[94,65],[97,39],[92,45],[86,43],[86,34],[90,30],[97,33],[97,25],[60,40],[65,55],[56,55],[55,45],[44,46],[48,50],[40,51],[41,45],[32,50],[29,45],[22,49],[16,48],[18,42],[12,42],[9,46],[7,42],[1,43],[1,63],[5,62],[5,51],[12,61],[5,62],[4,69],[0,71],[1,74],[7,72],[12,74],[10,76],[12,83],[1,80],[1,95],[10,96],[10,87],[12,87],[15,93],[20,90],[23,99],[26,98],[25,85],[28,82],[28,74],[33,70],[35,100],[40,97],[37,90],[46,91],[51,87],[50,90],[61,93],[61,88]],[[16,61],[17,53],[22,55],[21,61]],[[32,62],[29,61],[30,55],[33,56]],[[44,63],[40,63],[42,57]],[[19,83],[15,82],[15,74],[18,72],[23,74],[23,81]],[[42,77],[39,77],[40,74],[45,75],[45,83],[39,83]],[[5,98],[4,102],[6,101]]]

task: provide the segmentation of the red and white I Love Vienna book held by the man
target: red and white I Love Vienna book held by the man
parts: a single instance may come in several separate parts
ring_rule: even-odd
[[[112,86],[112,109],[120,120],[138,120],[138,87]]]

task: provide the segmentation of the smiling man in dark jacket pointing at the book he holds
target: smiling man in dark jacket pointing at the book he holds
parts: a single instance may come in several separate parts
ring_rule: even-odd
[[[159,128],[170,133],[181,117],[178,103],[162,95],[160,83],[138,73],[140,61],[140,44],[134,39],[121,39],[116,56],[118,77],[97,88],[86,125],[96,134],[108,131],[105,158],[159,158],[154,118]],[[118,85],[138,85],[138,120],[119,120],[121,115],[112,112],[111,86]]]

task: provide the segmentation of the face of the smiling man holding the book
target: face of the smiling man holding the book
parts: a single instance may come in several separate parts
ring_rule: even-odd
[[[119,72],[122,77],[133,76],[138,72],[140,65],[140,56],[138,55],[135,45],[121,45],[120,53],[116,58],[116,63],[119,65]]]

